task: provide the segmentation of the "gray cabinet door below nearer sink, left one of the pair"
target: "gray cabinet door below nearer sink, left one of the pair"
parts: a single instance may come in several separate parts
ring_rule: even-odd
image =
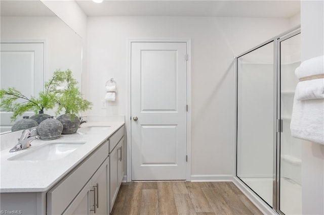
[[[88,215],[90,212],[91,181],[79,192],[63,214]]]

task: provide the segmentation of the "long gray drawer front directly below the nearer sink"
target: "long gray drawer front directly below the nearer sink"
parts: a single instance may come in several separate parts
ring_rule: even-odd
[[[47,214],[62,214],[107,157],[108,141],[47,193]]]

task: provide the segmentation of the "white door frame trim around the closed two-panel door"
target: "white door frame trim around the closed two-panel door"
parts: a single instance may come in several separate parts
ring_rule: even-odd
[[[187,162],[186,162],[186,180],[191,181],[191,39],[190,38],[128,38],[127,39],[127,110],[125,116],[126,140],[127,140],[127,182],[132,181],[132,126],[131,126],[131,60],[133,42],[185,42],[187,46]]]

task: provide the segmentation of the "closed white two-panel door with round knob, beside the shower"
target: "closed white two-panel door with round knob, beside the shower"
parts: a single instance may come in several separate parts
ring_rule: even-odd
[[[131,48],[132,180],[185,180],[186,42]]]

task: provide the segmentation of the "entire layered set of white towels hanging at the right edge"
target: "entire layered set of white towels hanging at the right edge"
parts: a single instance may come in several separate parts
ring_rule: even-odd
[[[324,56],[301,63],[290,129],[292,136],[324,144]]]

